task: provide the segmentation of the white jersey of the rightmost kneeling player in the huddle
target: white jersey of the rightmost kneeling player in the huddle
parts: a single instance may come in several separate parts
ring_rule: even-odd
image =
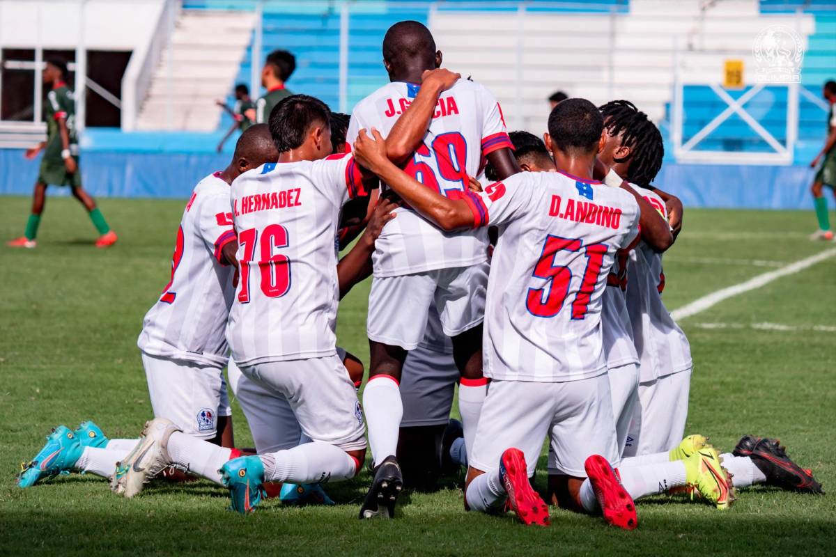
[[[665,202],[659,195],[636,185],[633,189],[667,220]],[[653,381],[691,369],[691,346],[662,301],[665,288],[662,254],[640,242],[630,252],[627,270],[627,310],[639,352],[640,381]]]

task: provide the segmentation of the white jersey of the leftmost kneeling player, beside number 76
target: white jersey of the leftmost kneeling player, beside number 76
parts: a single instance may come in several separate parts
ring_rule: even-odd
[[[227,365],[227,327],[232,304],[232,266],[221,263],[221,249],[235,241],[229,185],[208,175],[183,211],[177,230],[171,281],[145,314],[136,342],[151,356],[206,365]]]

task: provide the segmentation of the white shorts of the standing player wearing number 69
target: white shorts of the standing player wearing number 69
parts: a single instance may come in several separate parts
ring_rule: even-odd
[[[424,338],[431,303],[448,337],[476,327],[485,317],[488,269],[485,261],[413,275],[375,276],[366,322],[369,339],[414,350]]]

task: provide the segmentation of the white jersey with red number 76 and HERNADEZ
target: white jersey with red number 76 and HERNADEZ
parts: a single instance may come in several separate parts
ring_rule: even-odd
[[[336,353],[339,211],[365,195],[350,154],[268,163],[232,183],[241,267],[227,340],[240,366]]]

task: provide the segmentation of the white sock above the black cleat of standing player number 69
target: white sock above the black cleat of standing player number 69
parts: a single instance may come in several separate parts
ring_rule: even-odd
[[[400,400],[400,386],[394,377],[375,375],[366,383],[363,411],[369,428],[371,454],[377,466],[398,448],[404,403]]]

